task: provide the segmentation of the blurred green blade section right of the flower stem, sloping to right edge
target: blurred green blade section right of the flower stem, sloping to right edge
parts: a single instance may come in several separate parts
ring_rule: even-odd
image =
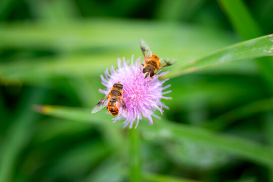
[[[171,121],[158,122],[152,127],[143,124],[140,127],[144,132],[152,133],[155,140],[162,138],[178,142],[188,140],[196,144],[221,149],[260,164],[273,164],[273,151],[269,146],[262,146],[247,139]]]

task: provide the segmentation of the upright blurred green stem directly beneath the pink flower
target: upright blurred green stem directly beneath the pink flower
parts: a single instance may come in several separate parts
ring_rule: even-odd
[[[140,172],[140,135],[138,129],[129,129],[129,179],[131,182],[141,181]]]

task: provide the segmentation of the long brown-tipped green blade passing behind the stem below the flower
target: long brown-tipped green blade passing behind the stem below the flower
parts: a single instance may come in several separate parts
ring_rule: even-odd
[[[95,124],[111,123],[109,115],[107,116],[103,113],[92,115],[89,110],[86,111],[60,106],[39,106],[36,108],[36,110],[42,114],[64,119],[85,121]],[[212,148],[224,150],[257,163],[266,165],[273,164],[273,151],[269,147],[262,146],[246,139],[215,133],[196,126],[177,124],[171,121],[156,120],[153,126],[148,126],[146,123],[146,121],[142,122],[138,128],[144,132],[146,136],[149,135],[157,140],[162,138],[178,142],[189,140],[197,144],[200,143]],[[122,122],[117,121],[115,124],[122,125]]]

